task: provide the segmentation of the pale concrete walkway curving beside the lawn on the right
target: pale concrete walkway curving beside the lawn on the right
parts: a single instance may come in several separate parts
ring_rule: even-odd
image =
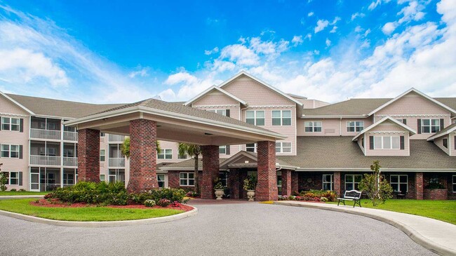
[[[302,206],[351,213],[373,217],[397,227],[408,234],[413,241],[441,255],[456,255],[456,225],[428,217],[395,213],[388,210],[372,208],[353,208],[353,206],[337,206],[329,203],[307,203],[298,201],[279,201],[276,204]]]

